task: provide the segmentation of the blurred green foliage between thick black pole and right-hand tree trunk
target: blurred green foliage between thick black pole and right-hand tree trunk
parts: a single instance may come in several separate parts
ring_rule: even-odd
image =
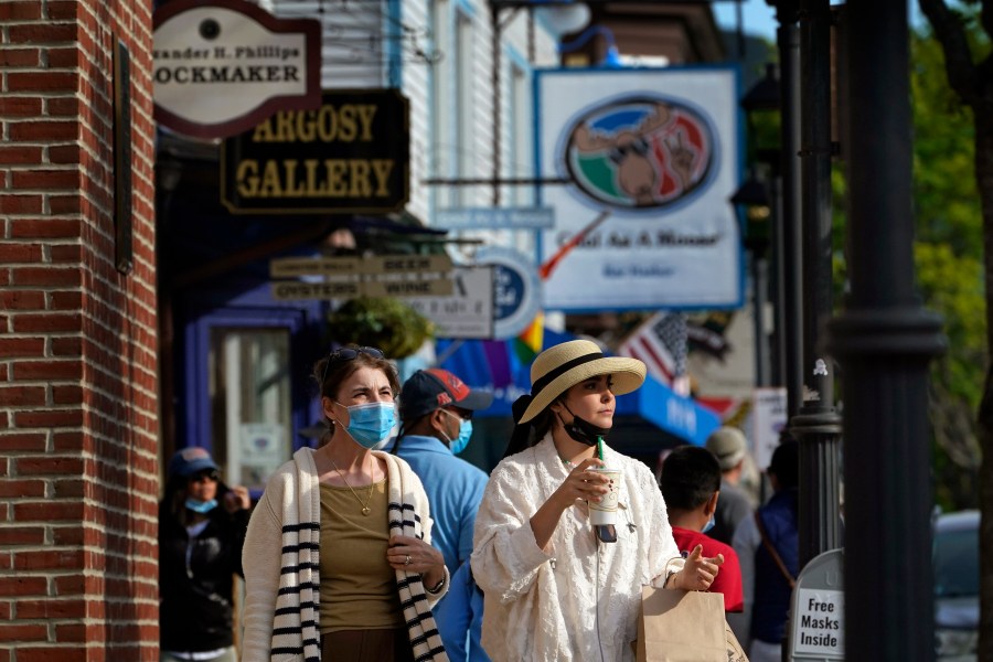
[[[973,53],[989,52],[972,21]],[[914,258],[925,306],[944,318],[948,353],[931,364],[935,491],[946,509],[974,506],[975,412],[987,362],[982,209],[971,110],[948,85],[941,45],[911,33]]]

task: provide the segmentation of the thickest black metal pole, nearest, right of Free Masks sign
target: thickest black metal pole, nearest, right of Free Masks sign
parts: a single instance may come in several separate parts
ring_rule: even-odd
[[[907,3],[850,0],[846,14],[851,293],[829,325],[845,406],[845,659],[930,661],[927,371],[944,340],[914,287]]]

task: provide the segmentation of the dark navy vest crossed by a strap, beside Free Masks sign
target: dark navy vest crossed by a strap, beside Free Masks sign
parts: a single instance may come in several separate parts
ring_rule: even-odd
[[[800,572],[800,531],[797,514],[797,489],[776,492],[759,509],[762,526],[772,546],[793,579]],[[792,589],[765,545],[755,551],[755,605],[751,611],[751,636],[779,643],[786,630]]]

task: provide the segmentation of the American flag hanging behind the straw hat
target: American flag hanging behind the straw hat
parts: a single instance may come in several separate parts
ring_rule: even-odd
[[[686,316],[663,311],[638,327],[617,353],[642,361],[650,375],[680,395],[688,395],[686,344]]]

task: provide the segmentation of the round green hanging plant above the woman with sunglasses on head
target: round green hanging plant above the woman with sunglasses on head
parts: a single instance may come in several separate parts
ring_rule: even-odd
[[[398,299],[359,298],[328,316],[332,340],[378,348],[391,359],[405,359],[434,334],[426,317]]]

